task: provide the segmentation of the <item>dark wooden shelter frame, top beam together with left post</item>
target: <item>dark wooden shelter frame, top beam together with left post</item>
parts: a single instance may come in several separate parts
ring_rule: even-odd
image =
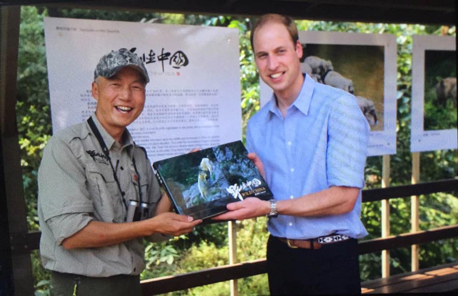
[[[23,234],[23,248],[28,248],[15,112],[21,5],[247,17],[274,12],[324,21],[456,22],[455,0],[0,0],[0,289],[4,283],[14,285],[17,295],[34,294],[30,252],[10,245],[13,236]]]

